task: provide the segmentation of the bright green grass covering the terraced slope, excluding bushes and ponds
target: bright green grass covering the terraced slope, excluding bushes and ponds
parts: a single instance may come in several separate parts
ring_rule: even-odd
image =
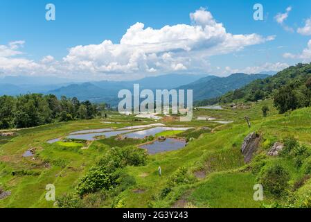
[[[265,118],[261,111],[263,105],[268,105],[271,110]],[[305,172],[303,167],[296,167],[296,157],[268,157],[266,153],[274,142],[282,142],[288,137],[298,139],[309,148],[311,108],[284,115],[277,114],[269,100],[249,103],[249,106],[249,109],[242,110],[200,109],[194,112],[193,121],[165,123],[168,126],[192,126],[195,129],[186,132],[165,131],[156,136],[177,135],[195,139],[178,151],[148,155],[144,166],[125,167],[125,173],[133,178],[134,183],[114,196],[108,195],[100,203],[92,205],[89,202],[87,207],[115,207],[112,203],[116,201],[123,203],[119,204],[121,207],[262,207],[271,203],[296,203],[298,200],[295,202],[269,195],[265,195],[263,201],[253,199],[253,187],[258,183],[258,174],[252,171],[255,162],[245,164],[240,152],[243,139],[253,131],[262,136],[256,155],[263,155],[267,165],[278,162],[285,167],[290,173],[290,194],[301,200],[306,192],[303,187],[310,185],[308,182],[301,182],[305,178]],[[244,120],[246,115],[251,118],[251,128],[247,127]],[[117,113],[109,116],[112,117],[104,121],[120,123],[103,123],[101,119],[71,121],[19,130],[15,137],[4,138],[4,141],[1,137],[0,187],[11,191],[11,195],[0,200],[0,207],[57,207],[53,205],[53,201],[46,201],[44,198],[46,185],[55,185],[56,196],[74,193],[79,179],[109,149],[143,143],[142,140],[135,139],[118,141],[112,137],[99,139],[90,144],[89,148],[82,149],[85,144],[80,142],[47,144],[49,139],[64,137],[77,130],[155,123],[150,119],[144,119],[144,123],[133,121],[132,117]],[[196,120],[199,116],[215,117],[217,120],[233,123]],[[35,148],[34,157],[22,157],[29,148]],[[157,171],[159,167],[162,169],[161,177]],[[166,196],[161,196],[163,189],[172,180],[172,175],[181,167],[186,167],[186,175],[180,177],[188,176],[193,179],[175,182]]]

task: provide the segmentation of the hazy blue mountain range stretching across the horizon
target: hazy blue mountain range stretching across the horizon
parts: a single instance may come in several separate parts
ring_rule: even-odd
[[[272,74],[270,72],[270,74]],[[121,89],[133,90],[133,84],[140,89],[193,89],[194,100],[221,96],[226,92],[247,85],[252,80],[266,78],[267,74],[231,74],[227,77],[211,75],[168,74],[152,76],[130,81],[94,81],[82,83],[66,78],[6,76],[0,78],[0,95],[18,95],[26,93],[55,94],[57,97],[77,97],[79,100],[118,103],[117,94]]]

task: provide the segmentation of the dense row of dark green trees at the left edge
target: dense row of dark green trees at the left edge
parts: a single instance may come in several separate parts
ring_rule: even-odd
[[[58,121],[92,119],[105,110],[105,104],[61,99],[53,94],[0,96],[0,129],[26,128]]]

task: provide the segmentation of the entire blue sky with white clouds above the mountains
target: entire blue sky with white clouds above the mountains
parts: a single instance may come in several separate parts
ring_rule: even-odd
[[[55,21],[45,19],[47,3]],[[255,3],[263,21],[253,19]],[[1,0],[0,74],[119,80],[278,71],[311,61],[310,8],[308,0]],[[123,38],[137,23],[144,26]]]

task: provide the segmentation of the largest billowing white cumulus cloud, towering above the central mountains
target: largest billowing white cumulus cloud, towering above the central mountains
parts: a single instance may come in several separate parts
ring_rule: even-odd
[[[105,40],[101,44],[75,46],[64,62],[71,69],[85,71],[126,74],[157,70],[165,73],[188,70],[210,56],[274,40],[273,36],[262,37],[254,33],[227,33],[204,8],[190,13],[190,20],[191,25],[177,24],[160,29],[145,28],[138,22],[127,29],[120,44]]]

